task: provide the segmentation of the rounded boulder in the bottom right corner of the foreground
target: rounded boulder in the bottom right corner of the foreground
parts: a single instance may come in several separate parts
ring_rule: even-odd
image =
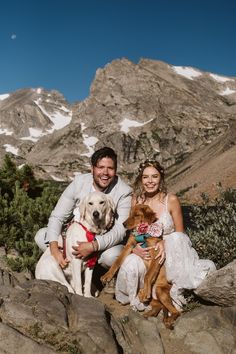
[[[181,316],[170,340],[189,353],[236,353],[236,306],[201,306]]]

